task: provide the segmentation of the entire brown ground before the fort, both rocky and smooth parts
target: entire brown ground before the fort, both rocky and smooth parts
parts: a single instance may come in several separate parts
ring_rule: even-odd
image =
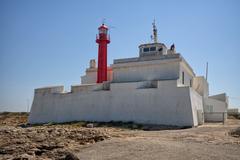
[[[81,160],[240,159],[236,119],[224,125],[144,131],[134,124],[86,128],[83,122],[26,127],[26,117],[0,116],[0,159],[64,159],[68,153]]]

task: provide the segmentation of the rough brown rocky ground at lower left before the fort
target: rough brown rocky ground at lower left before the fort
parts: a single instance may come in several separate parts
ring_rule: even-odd
[[[79,147],[110,138],[108,129],[83,127],[81,122],[39,126],[26,122],[26,113],[0,115],[0,159],[69,159]]]

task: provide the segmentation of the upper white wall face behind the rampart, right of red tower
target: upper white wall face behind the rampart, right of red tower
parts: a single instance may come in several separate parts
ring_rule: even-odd
[[[178,79],[179,60],[154,60],[113,64],[113,82]]]

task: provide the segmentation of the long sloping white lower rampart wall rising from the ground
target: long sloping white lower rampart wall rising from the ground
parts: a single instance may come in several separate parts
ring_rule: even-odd
[[[196,126],[200,98],[176,81],[159,81],[158,88],[113,89],[71,93],[35,92],[30,123],[134,121],[136,123]],[[128,85],[139,86],[129,83]],[[127,85],[123,85],[127,86]],[[118,89],[119,88],[119,89]],[[192,93],[194,95],[192,95]]]

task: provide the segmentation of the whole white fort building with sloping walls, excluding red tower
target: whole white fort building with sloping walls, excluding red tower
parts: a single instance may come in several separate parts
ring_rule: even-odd
[[[94,60],[81,85],[35,89],[29,123],[67,121],[133,121],[146,124],[198,126],[226,119],[225,94],[208,96],[208,83],[176,53],[157,42],[139,46],[139,56],[116,59],[108,81],[97,84]],[[205,118],[204,118],[205,117]]]

